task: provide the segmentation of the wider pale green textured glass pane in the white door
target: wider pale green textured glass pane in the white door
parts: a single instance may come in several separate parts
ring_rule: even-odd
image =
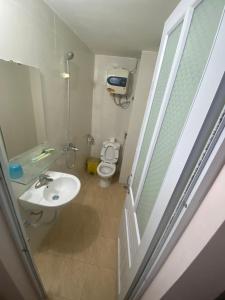
[[[200,83],[225,0],[205,0],[195,9],[170,101],[137,206],[143,236],[177,141]]]

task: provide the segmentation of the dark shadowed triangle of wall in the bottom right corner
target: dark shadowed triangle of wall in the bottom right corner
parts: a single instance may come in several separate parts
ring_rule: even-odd
[[[225,291],[224,236],[225,222],[162,300],[212,300]]]

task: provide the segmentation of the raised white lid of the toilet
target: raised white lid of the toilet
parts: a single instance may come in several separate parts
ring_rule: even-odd
[[[101,151],[101,160],[115,164],[118,161],[119,148],[120,145],[118,143],[104,142]]]

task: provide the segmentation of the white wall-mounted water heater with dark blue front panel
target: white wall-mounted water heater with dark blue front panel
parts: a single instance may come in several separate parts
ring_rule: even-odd
[[[115,68],[107,72],[106,85],[110,94],[127,95],[128,83],[128,70]]]

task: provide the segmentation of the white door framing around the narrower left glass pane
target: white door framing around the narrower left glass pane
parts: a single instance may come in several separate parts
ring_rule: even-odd
[[[198,3],[200,3],[202,0],[193,0],[195,6],[198,5]],[[149,94],[149,98],[147,101],[147,107],[145,110],[145,114],[144,114],[144,119],[143,119],[143,124],[141,127],[141,132],[139,135],[139,139],[138,139],[138,144],[137,144],[137,149],[135,152],[135,158],[134,158],[134,162],[133,162],[133,166],[132,166],[132,172],[131,175],[129,176],[130,178],[130,182],[128,183],[128,192],[129,192],[129,197],[130,197],[130,201],[128,201],[128,208],[127,210],[133,211],[133,221],[134,224],[130,225],[130,228],[128,223],[128,214],[125,214],[126,217],[126,224],[127,224],[127,234],[131,237],[132,235],[129,234],[130,230],[133,230],[136,233],[136,238],[133,239],[132,242],[132,248],[136,249],[139,247],[140,243],[141,243],[141,236],[140,236],[140,232],[139,232],[139,226],[138,226],[138,221],[137,221],[137,215],[136,215],[136,209],[140,200],[140,196],[141,196],[141,192],[143,190],[144,187],[144,182],[145,182],[145,178],[148,172],[148,168],[154,153],[154,149],[158,140],[158,136],[160,133],[160,129],[161,126],[163,124],[163,120],[164,120],[164,116],[166,113],[166,109],[167,106],[169,104],[169,100],[170,100],[170,95],[173,89],[173,85],[176,79],[176,75],[177,75],[177,71],[180,65],[180,61],[183,55],[183,51],[185,48],[185,44],[186,44],[186,40],[188,37],[188,33],[189,33],[189,29],[190,29],[190,25],[191,25],[191,20],[192,20],[192,16],[194,13],[194,7],[189,7],[188,10],[187,9],[183,9],[183,10],[178,10],[178,13],[175,13],[171,16],[171,18],[168,19],[168,21],[166,22],[166,25],[164,26],[164,30],[163,30],[163,37],[162,37],[162,42],[160,43],[160,50],[159,50],[159,54],[157,57],[157,61],[156,61],[156,67],[155,67],[155,71],[154,71],[154,75],[153,75],[153,81],[152,81],[152,86],[150,89],[150,94]],[[155,128],[153,130],[153,134],[152,134],[152,139],[150,141],[149,144],[149,149],[147,151],[147,155],[146,155],[146,163],[144,165],[141,177],[140,177],[140,181],[138,184],[138,189],[137,189],[137,193],[136,196],[134,198],[133,195],[133,190],[132,190],[132,183],[133,183],[133,179],[134,179],[134,174],[135,174],[135,170],[137,167],[137,163],[138,163],[138,159],[139,159],[139,155],[141,153],[141,146],[142,146],[142,142],[144,140],[144,136],[145,136],[145,131],[147,128],[147,124],[148,124],[148,119],[149,119],[149,114],[152,108],[152,104],[153,104],[153,100],[155,97],[155,92],[156,92],[156,88],[157,88],[157,81],[159,79],[159,74],[161,71],[161,67],[162,67],[162,63],[163,63],[163,59],[164,59],[164,54],[165,54],[165,50],[166,47],[168,45],[168,39],[170,34],[177,28],[177,26],[179,26],[179,24],[181,24],[181,30],[180,30],[180,34],[178,37],[178,41],[177,41],[177,45],[176,45],[176,50],[175,50],[175,54],[174,57],[172,59],[172,63],[171,63],[171,69],[169,72],[169,77],[168,77],[168,81],[166,83],[165,86],[165,90],[163,91],[163,99],[162,99],[162,103],[161,103],[161,107],[159,109],[159,114],[157,116],[156,119],[156,124],[155,124]],[[129,243],[129,242],[128,242]],[[131,261],[131,254],[130,251],[128,250],[128,256],[129,256],[129,261]]]

